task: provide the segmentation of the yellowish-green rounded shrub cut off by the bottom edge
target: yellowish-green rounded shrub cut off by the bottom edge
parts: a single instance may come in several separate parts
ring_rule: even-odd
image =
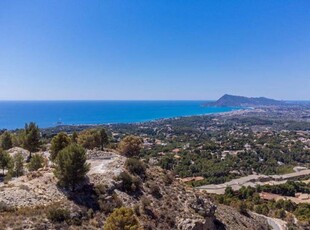
[[[117,208],[107,218],[104,230],[138,230],[139,222],[130,208]]]

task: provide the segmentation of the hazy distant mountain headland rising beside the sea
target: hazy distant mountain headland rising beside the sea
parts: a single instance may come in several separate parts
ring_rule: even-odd
[[[243,97],[225,94],[215,102],[205,104],[205,106],[217,106],[217,107],[235,107],[235,106],[275,106],[285,105],[284,101],[277,101],[266,97]]]

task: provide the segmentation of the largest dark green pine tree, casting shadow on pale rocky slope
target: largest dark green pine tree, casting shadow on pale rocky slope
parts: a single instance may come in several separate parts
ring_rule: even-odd
[[[85,179],[90,168],[86,163],[85,149],[76,144],[71,144],[61,150],[55,163],[54,174],[59,179],[59,184],[72,191],[75,190],[78,183]]]

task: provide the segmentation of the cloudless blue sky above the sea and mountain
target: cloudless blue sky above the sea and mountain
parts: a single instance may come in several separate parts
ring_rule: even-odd
[[[1,0],[0,100],[310,99],[309,0]]]

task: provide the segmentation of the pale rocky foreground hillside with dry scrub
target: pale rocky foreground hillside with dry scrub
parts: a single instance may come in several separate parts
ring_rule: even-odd
[[[125,191],[119,177],[127,171],[126,158],[101,151],[89,151],[88,158],[87,181],[74,193],[57,186],[51,168],[0,182],[0,229],[102,229],[121,206],[134,210],[142,229],[268,229],[263,218],[216,207],[158,167],[148,166],[143,177],[131,175],[139,188]],[[69,211],[69,219],[52,222],[47,217],[59,208]]]

